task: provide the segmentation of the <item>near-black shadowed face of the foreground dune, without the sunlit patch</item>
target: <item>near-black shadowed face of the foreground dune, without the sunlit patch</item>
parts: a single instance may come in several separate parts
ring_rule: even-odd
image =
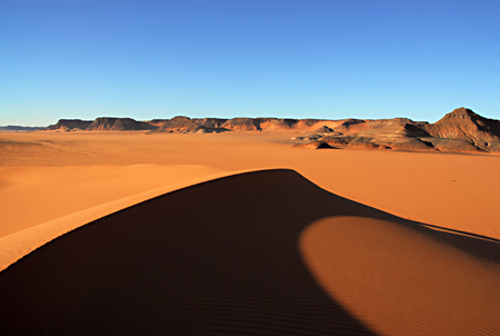
[[[292,170],[203,182],[96,220],[0,273],[0,334],[373,335],[319,287],[298,248],[303,229],[330,216],[418,225]],[[498,244],[483,245],[496,243],[441,236],[499,261]]]

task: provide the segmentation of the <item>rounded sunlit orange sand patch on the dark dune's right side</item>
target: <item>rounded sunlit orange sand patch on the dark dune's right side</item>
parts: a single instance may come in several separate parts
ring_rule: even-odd
[[[311,224],[300,246],[322,287],[381,335],[500,330],[500,266],[436,236],[341,216]]]

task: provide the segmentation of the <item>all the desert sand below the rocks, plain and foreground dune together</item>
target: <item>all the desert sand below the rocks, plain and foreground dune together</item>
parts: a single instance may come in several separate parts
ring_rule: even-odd
[[[1,134],[0,334],[500,335],[500,156],[297,135]]]

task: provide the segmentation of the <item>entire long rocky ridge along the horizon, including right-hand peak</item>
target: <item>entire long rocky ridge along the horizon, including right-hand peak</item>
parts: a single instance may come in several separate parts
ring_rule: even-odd
[[[459,108],[434,123],[394,119],[282,119],[189,118],[137,121],[131,118],[97,118],[94,121],[61,119],[48,130],[149,130],[157,132],[286,131],[302,132],[291,140],[301,148],[366,148],[410,151],[500,154],[500,121]],[[309,142],[308,142],[309,141]]]

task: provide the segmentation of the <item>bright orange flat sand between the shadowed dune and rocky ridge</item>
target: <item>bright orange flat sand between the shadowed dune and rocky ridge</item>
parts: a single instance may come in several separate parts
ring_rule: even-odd
[[[214,172],[290,168],[331,192],[374,208],[426,224],[500,238],[500,157],[306,150],[291,147],[297,142],[289,139],[297,135],[287,131],[1,134],[0,205],[2,216],[12,220],[3,221],[0,236],[100,201]],[[133,165],[149,166],[123,167]],[[188,168],[191,172],[182,176],[184,169],[176,168],[179,165],[202,167]],[[120,167],[114,174],[114,168],[109,166]],[[6,171],[1,167],[13,169]],[[162,169],[176,172],[163,174]],[[64,185],[56,186],[53,178],[59,174]],[[73,177],[74,181],[70,181]],[[79,184],[80,178],[92,187]],[[58,206],[61,202],[68,210]],[[24,214],[27,204],[29,214]]]

